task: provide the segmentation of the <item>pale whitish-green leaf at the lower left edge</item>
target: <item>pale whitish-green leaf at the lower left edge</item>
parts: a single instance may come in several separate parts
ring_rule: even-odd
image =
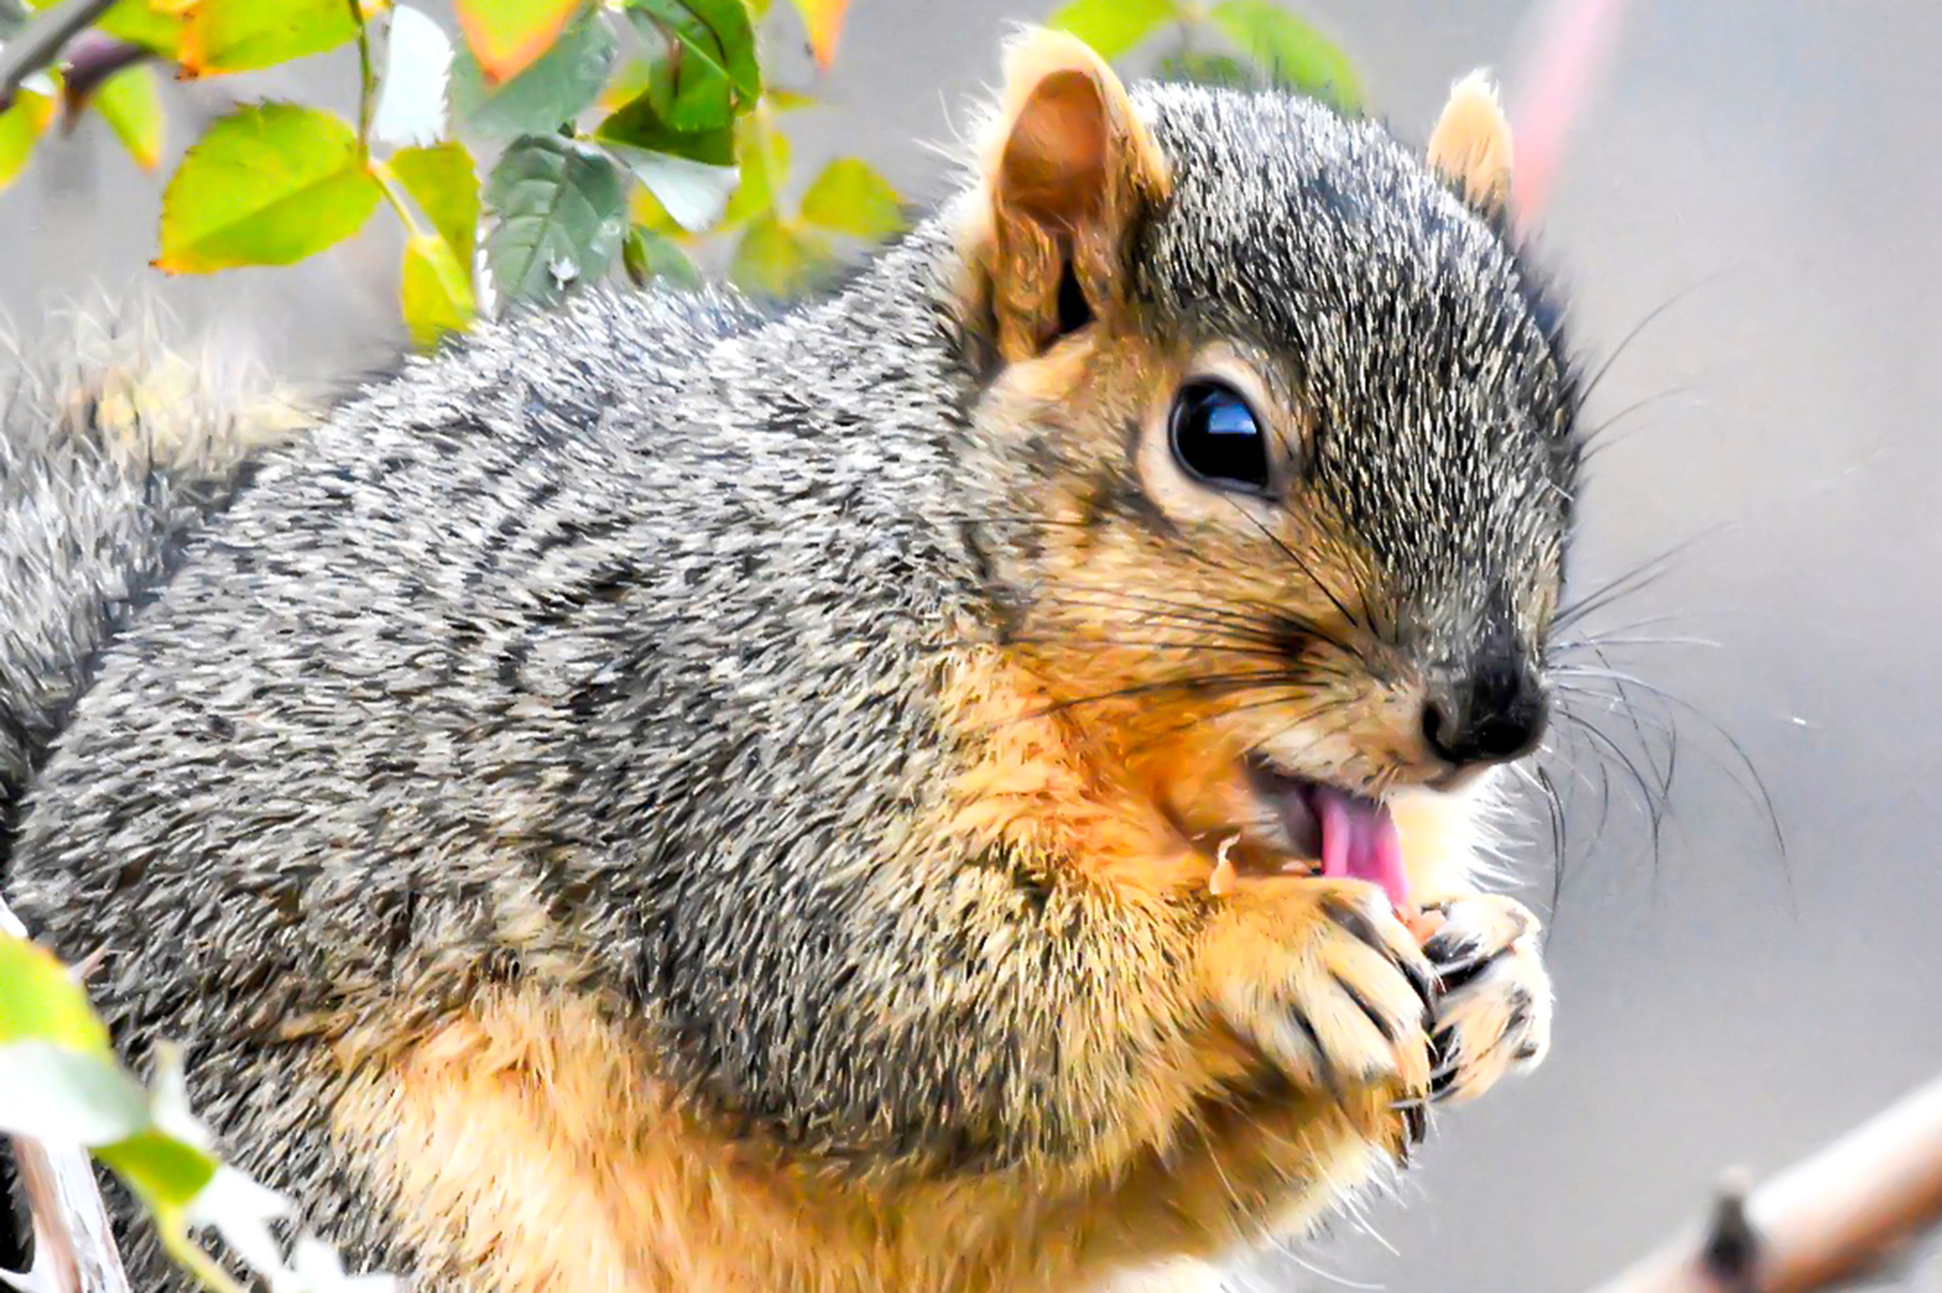
[[[0,1046],[0,1132],[107,1145],[148,1124],[148,1093],[107,1050],[50,1041]]]

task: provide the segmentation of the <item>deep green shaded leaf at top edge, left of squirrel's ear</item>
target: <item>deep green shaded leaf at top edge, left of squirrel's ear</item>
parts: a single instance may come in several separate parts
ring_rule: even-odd
[[[627,0],[627,16],[662,43],[645,93],[672,130],[717,130],[761,95],[742,0]]]

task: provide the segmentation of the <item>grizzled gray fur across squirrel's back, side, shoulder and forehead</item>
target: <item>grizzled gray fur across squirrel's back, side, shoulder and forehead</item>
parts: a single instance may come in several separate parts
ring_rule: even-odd
[[[1466,563],[1515,582],[1563,532],[1567,396],[1515,258],[1371,124],[1142,103],[1177,177],[1140,254],[1152,326],[1295,355],[1328,410],[1319,472],[1398,613],[1460,621]],[[66,602],[74,567],[0,563],[10,617],[82,625],[6,639],[0,714],[31,720],[8,777],[93,678],[10,893],[64,955],[109,949],[128,1050],[186,1041],[198,1107],[353,1260],[412,1254],[332,1157],[322,1043],[282,1033],[437,1019],[486,982],[596,994],[697,1101],[853,1171],[1099,1132],[1060,1103],[1082,1093],[1047,1095],[1058,1013],[1179,967],[1060,876],[917,829],[965,753],[932,711],[952,635],[1033,596],[990,586],[973,549],[1002,532],[959,522],[1010,509],[1018,474],[952,274],[932,219],[779,320],[588,293],[480,328],[268,452],[165,582],[212,509],[54,481],[60,450],[8,421],[0,481],[37,483],[8,485],[0,551],[117,557]],[[134,1266],[183,1287],[148,1244]]]

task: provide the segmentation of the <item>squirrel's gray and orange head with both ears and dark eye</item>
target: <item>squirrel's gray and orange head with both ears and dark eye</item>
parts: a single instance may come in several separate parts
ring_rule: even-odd
[[[973,540],[1008,648],[1202,845],[1381,848],[1390,792],[1544,732],[1579,450],[1509,155],[1480,78],[1418,155],[1012,50],[959,208]]]

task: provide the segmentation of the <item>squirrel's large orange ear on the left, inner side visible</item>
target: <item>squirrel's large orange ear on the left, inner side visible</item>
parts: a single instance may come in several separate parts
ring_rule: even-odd
[[[1029,359],[1124,299],[1128,235],[1167,169],[1124,85],[1076,37],[1027,33],[1004,80],[971,264],[998,351]]]

